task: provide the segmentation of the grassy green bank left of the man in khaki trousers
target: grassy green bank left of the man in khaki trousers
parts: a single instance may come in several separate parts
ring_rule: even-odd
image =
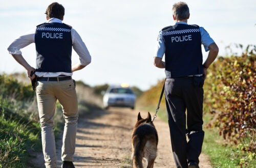
[[[27,167],[28,149],[41,149],[34,95],[30,86],[0,75],[0,167]]]

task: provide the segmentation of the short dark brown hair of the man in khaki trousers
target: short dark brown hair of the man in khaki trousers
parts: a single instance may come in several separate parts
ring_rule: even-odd
[[[45,14],[49,18],[54,17],[54,18],[58,18],[58,19],[63,19],[63,16],[65,15],[65,8],[59,3],[52,3],[46,9]]]

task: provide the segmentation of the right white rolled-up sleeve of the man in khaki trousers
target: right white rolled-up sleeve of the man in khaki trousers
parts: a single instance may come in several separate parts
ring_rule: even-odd
[[[80,64],[87,66],[91,63],[91,55],[87,49],[86,44],[84,44],[80,35],[74,29],[71,29],[71,35],[73,48],[79,56]]]

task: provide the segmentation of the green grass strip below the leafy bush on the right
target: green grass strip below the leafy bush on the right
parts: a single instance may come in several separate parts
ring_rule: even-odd
[[[204,115],[205,123],[210,115]],[[243,145],[232,145],[219,135],[217,128],[204,128],[204,144],[202,152],[210,157],[212,167],[256,167],[255,153],[245,152]]]

